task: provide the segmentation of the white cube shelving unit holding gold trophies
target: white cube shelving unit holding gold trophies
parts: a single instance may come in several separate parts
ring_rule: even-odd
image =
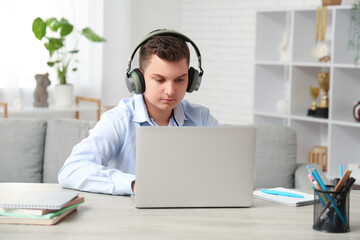
[[[338,176],[339,164],[360,162],[360,123],[353,118],[355,102],[360,100],[360,68],[348,51],[351,6],[328,6],[327,36],[331,61],[311,57],[315,46],[316,9],[259,11],[256,15],[254,123],[285,125],[298,136],[298,162],[307,161],[314,145],[328,146],[329,178]],[[280,61],[279,45],[290,29],[290,60]],[[318,86],[317,73],[330,72],[329,118],[307,116],[312,98],[309,87]],[[319,104],[322,91],[317,99]],[[287,99],[286,111],[277,103]]]

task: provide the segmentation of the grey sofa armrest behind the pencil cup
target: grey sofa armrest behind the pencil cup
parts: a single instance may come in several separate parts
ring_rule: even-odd
[[[306,169],[306,166],[310,165],[311,168],[316,168],[325,185],[330,184],[330,181],[325,176],[324,172],[321,171],[321,168],[317,164],[307,164],[307,163],[298,163],[295,170],[295,188],[297,189],[313,189],[313,186],[308,178],[309,171]]]

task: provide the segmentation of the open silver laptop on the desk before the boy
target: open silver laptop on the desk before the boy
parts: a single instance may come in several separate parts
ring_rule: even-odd
[[[250,207],[255,127],[139,127],[135,207]]]

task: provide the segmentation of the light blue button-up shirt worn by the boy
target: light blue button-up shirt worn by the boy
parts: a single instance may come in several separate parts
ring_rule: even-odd
[[[218,126],[203,106],[182,100],[169,126]],[[58,174],[61,186],[113,195],[132,194],[135,180],[136,130],[158,126],[149,118],[143,95],[123,99],[104,114],[89,137],[77,144]]]

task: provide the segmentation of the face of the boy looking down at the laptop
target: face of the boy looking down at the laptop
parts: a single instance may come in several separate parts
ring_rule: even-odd
[[[184,98],[188,85],[186,59],[170,62],[153,55],[142,70],[144,99],[150,115],[169,114]]]

